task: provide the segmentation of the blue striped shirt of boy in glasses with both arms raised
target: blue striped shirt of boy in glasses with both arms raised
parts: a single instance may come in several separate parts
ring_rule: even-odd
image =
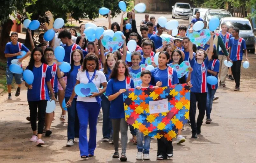
[[[203,61],[202,64],[196,62],[195,57],[192,60],[189,60],[190,66],[193,68],[191,72],[191,92],[195,93],[205,93],[207,92],[206,76],[207,69],[209,66],[208,57]]]

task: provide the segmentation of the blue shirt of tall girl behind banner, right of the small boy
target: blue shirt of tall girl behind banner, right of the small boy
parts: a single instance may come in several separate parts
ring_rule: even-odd
[[[158,67],[156,67],[153,70],[151,70],[151,75],[152,75],[152,78],[150,81],[151,85],[156,85],[156,83],[160,81],[162,82],[162,87],[168,86],[168,82],[169,82],[168,67],[165,70],[160,70]],[[171,78],[172,78],[171,85],[175,85],[179,83],[179,78],[175,69],[173,69]]]

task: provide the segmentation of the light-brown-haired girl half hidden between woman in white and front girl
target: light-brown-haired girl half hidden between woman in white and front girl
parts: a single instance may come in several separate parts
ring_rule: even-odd
[[[103,71],[107,82],[109,81],[110,74],[116,64],[117,57],[113,53],[108,53],[106,55],[106,62],[104,64],[104,68],[101,69]],[[103,94],[101,95],[101,107],[103,111],[103,125],[102,125],[102,133],[103,133],[103,141],[109,141],[109,143],[113,143],[112,139],[112,124],[109,118],[110,111],[110,101]]]

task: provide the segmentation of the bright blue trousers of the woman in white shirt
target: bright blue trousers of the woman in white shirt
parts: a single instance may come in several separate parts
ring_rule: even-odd
[[[76,110],[80,122],[79,149],[81,156],[94,155],[96,148],[97,120],[100,112],[97,102],[77,101]],[[87,126],[89,122],[89,141],[87,139]]]

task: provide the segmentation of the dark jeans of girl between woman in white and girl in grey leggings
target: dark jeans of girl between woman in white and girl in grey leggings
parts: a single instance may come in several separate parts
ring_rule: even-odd
[[[110,101],[104,95],[101,95],[101,99],[101,108],[103,112],[102,134],[103,137],[110,138],[110,135],[113,133],[112,124],[109,118]]]

